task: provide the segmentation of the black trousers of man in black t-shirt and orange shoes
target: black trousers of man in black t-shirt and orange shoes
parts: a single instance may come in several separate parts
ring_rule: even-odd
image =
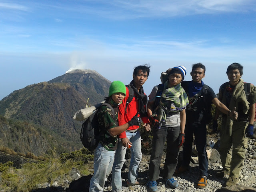
[[[182,165],[184,167],[189,167],[192,152],[193,134],[195,134],[196,150],[198,151],[198,164],[200,174],[208,177],[208,158],[206,153],[205,124],[191,124],[186,122]]]

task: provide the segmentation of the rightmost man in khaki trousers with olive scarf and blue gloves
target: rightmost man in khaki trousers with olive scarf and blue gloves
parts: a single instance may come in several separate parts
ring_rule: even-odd
[[[225,186],[232,186],[238,182],[239,172],[244,164],[248,137],[253,136],[256,87],[249,84],[247,99],[244,87],[248,83],[244,83],[241,79],[243,66],[239,63],[228,66],[226,74],[229,82],[220,86],[219,99],[229,108],[236,107],[238,119],[234,121],[229,116],[222,115],[219,152],[223,169],[217,172],[216,176],[223,177],[229,174]],[[219,114],[216,109],[215,120],[218,119]]]

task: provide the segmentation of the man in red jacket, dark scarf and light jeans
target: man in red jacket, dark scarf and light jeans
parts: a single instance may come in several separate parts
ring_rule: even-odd
[[[119,105],[119,125],[127,123],[134,115],[138,115],[142,118],[144,124],[142,128],[146,128],[150,131],[150,124],[148,122],[148,116],[146,113],[146,104],[148,98],[144,93],[142,85],[148,79],[150,67],[147,65],[137,66],[134,68],[133,80],[126,86],[126,97],[122,104]],[[132,100],[127,102],[129,95],[132,96]],[[146,124],[147,123],[147,124]],[[131,145],[131,161],[128,172],[127,185],[140,184],[138,178],[138,166],[142,159],[141,152],[141,138],[140,138],[140,126],[130,126],[125,132],[118,136],[118,147],[116,150],[113,170],[112,170],[112,190],[113,192],[120,192],[122,190],[122,177],[121,169],[125,162],[126,149]]]

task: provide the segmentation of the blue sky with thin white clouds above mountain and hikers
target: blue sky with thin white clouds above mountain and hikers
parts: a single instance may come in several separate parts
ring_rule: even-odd
[[[216,93],[233,62],[256,84],[255,0],[0,0],[0,99],[70,68],[128,84],[147,63],[150,94],[162,71],[182,64],[191,80],[198,62]]]

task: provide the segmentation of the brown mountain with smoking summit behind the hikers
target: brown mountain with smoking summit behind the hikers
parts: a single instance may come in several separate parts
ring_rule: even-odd
[[[50,148],[58,146],[58,140],[60,140],[64,142],[63,146],[67,151],[78,150],[82,147],[80,141],[82,122],[73,120],[72,117],[78,110],[86,108],[86,105],[102,102],[108,95],[110,84],[109,80],[93,70],[74,70],[48,82],[40,82],[15,90],[0,101],[0,115],[7,120],[19,120],[21,124],[27,122],[42,130],[45,128],[51,130],[55,133],[53,139],[56,142],[52,142]],[[2,128],[1,124],[0,128]],[[39,140],[46,139],[40,138],[36,131],[38,130],[35,130],[34,135]],[[29,131],[24,130],[24,132]],[[9,134],[11,135],[11,132]],[[0,140],[2,140],[1,136]],[[26,141],[18,140],[18,142]],[[36,146],[31,149],[28,145],[21,145],[28,152],[36,150]],[[14,146],[11,146],[11,149],[14,150]],[[18,150],[17,145],[16,150]],[[45,152],[45,149],[40,151]]]

